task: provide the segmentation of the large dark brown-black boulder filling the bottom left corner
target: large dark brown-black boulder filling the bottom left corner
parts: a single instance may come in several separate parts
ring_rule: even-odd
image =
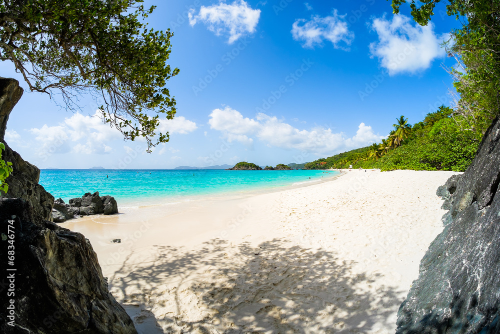
[[[4,274],[15,277],[15,318],[8,325],[10,298],[2,296],[1,333],[136,333],[83,235],[41,220],[24,199],[0,198],[2,231],[11,219],[16,271]],[[8,243],[0,245],[1,267],[8,268]]]

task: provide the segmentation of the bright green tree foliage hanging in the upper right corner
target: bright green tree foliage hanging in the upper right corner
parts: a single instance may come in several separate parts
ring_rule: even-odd
[[[395,14],[404,0],[393,0]],[[440,0],[411,1],[411,15],[426,25]],[[500,115],[500,2],[497,0],[449,0],[446,12],[463,22],[452,32],[448,56],[459,66],[449,69],[455,80],[454,113],[461,129],[484,133]],[[454,92],[450,92],[454,94]],[[459,115],[460,117],[455,117]]]

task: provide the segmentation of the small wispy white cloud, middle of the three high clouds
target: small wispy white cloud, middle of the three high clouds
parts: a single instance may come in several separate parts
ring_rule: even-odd
[[[292,25],[291,35],[295,41],[303,42],[303,48],[322,46],[323,41],[329,41],[335,49],[347,50],[354,33],[349,31],[344,19],[345,15],[338,15],[337,10],[324,18],[314,15],[309,21],[298,19]]]

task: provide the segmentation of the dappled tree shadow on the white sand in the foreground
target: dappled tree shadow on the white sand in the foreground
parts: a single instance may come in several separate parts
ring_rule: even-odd
[[[352,264],[284,239],[214,239],[196,250],[134,251],[110,286],[121,302],[149,307],[168,333],[376,331],[400,291],[377,287],[378,274],[353,273]]]

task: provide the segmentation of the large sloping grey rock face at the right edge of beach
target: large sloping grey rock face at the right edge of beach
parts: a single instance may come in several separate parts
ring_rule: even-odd
[[[499,182],[497,118],[465,173],[438,190],[449,202],[448,224],[420,263],[397,333],[500,333]]]

